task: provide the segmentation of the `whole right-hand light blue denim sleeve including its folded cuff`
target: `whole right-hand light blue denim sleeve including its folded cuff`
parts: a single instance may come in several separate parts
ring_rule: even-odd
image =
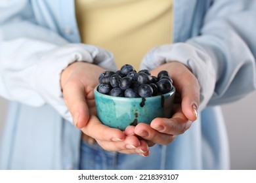
[[[180,61],[200,84],[200,109],[236,101],[256,88],[256,1],[213,1],[199,35],[153,48],[141,67]]]

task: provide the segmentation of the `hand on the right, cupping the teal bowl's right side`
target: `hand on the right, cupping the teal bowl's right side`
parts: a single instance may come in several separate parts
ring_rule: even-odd
[[[151,124],[138,124],[125,129],[125,135],[138,135],[148,141],[149,146],[154,144],[169,144],[177,135],[184,133],[198,117],[200,104],[200,86],[191,71],[179,62],[165,63],[152,70],[157,76],[161,70],[169,72],[176,88],[174,114],[170,119],[155,118]]]

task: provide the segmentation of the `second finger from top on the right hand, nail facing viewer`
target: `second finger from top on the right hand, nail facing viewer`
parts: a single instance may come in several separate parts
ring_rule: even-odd
[[[169,135],[167,133],[160,133],[155,129],[152,129],[150,125],[140,123],[135,127],[135,134],[139,135],[147,141],[154,142],[155,144],[167,145],[175,139],[175,135]]]

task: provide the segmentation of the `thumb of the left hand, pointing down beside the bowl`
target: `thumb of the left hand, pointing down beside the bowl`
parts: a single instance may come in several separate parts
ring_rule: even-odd
[[[72,114],[75,126],[79,129],[85,127],[90,115],[83,84],[78,80],[67,82],[63,88],[63,97]]]

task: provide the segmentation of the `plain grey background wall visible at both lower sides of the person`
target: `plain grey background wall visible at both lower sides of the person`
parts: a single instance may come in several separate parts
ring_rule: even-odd
[[[256,92],[222,107],[230,142],[231,169],[256,170],[255,103]],[[6,107],[7,101],[0,97],[0,134],[3,130]]]

